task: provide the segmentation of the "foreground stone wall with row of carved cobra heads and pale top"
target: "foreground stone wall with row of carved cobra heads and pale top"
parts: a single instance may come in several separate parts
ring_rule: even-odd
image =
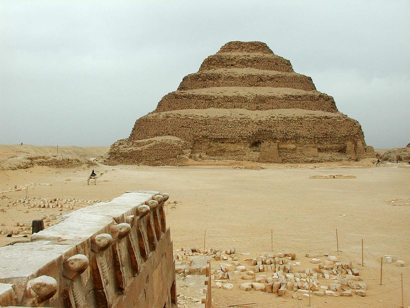
[[[0,306],[177,306],[167,194],[130,191],[0,248]]]

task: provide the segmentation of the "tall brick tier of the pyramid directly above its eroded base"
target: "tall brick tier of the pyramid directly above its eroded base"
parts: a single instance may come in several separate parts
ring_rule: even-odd
[[[174,136],[186,141],[271,140],[345,144],[363,140],[360,124],[342,113],[279,109],[186,109],[153,112],[136,121],[130,141]]]

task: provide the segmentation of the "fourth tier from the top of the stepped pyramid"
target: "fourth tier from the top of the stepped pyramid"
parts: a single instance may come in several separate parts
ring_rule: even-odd
[[[220,87],[175,91],[158,103],[155,112],[181,109],[305,109],[338,112],[335,101],[317,91],[290,88]]]

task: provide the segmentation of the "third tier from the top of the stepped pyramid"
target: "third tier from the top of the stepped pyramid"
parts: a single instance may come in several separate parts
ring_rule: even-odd
[[[178,90],[214,87],[274,87],[316,90],[312,79],[297,73],[257,69],[215,69],[189,74],[182,79]]]

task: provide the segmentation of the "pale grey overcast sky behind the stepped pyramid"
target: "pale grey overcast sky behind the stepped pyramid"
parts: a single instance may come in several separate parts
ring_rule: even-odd
[[[410,2],[0,2],[0,144],[111,145],[229,41],[262,41],[358,120],[410,142]]]

